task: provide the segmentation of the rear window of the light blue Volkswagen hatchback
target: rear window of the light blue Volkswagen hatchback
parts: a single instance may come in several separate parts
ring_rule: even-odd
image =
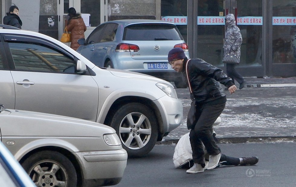
[[[161,23],[141,23],[124,28],[123,40],[183,40],[176,26]]]

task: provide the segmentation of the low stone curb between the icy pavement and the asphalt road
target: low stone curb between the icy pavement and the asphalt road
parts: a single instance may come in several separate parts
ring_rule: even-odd
[[[275,143],[275,142],[296,142],[296,136],[254,136],[254,137],[225,137],[217,138],[217,143]],[[179,139],[162,139],[155,145],[176,145]]]

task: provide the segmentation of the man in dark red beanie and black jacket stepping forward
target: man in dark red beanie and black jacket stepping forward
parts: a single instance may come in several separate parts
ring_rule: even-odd
[[[172,69],[182,72],[185,77],[185,67],[188,64],[188,78],[196,104],[197,122],[188,127],[191,129],[189,137],[194,165],[186,172],[199,173],[205,169],[214,169],[219,163],[221,154],[212,135],[213,124],[224,110],[226,103],[226,95],[221,84],[226,86],[231,94],[236,91],[236,86],[221,69],[199,58],[188,60],[182,48],[173,48],[169,51],[168,61]],[[205,168],[202,144],[210,154],[207,168]]]

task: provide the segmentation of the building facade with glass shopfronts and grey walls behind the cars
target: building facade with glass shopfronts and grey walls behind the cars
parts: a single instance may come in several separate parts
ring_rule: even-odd
[[[295,0],[0,0],[1,23],[11,5],[20,9],[23,29],[60,39],[67,10],[82,13],[85,35],[108,20],[157,19],[173,22],[191,58],[224,69],[225,21],[236,16],[243,43],[237,70],[243,76],[296,76]],[[224,69],[225,70],[225,69]]]

